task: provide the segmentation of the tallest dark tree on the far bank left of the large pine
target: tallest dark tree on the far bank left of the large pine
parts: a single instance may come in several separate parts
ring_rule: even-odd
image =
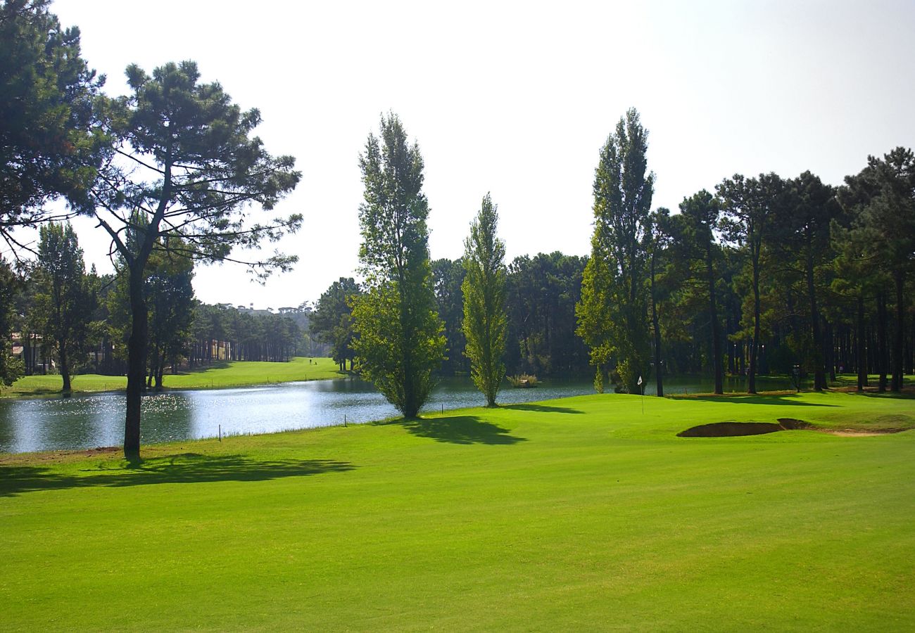
[[[49,222],[41,227],[38,242],[38,284],[34,310],[44,324],[46,345],[57,349],[61,392],[70,394],[72,359],[86,349],[95,297],[86,279],[82,249],[70,222]]]

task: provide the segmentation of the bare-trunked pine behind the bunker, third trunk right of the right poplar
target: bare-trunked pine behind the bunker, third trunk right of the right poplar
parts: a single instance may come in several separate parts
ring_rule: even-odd
[[[770,237],[772,220],[782,203],[784,184],[776,174],[760,174],[747,178],[735,174],[716,187],[722,200],[724,217],[721,227],[726,239],[749,255],[751,289],[753,293],[753,340],[749,349],[747,392],[756,393],[759,370],[759,334],[762,310],[759,304],[759,274],[763,244]]]

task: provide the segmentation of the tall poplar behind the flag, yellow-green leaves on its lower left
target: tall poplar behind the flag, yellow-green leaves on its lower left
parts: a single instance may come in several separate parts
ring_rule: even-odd
[[[579,335],[598,373],[615,358],[628,392],[637,392],[638,379],[647,377],[651,354],[644,284],[654,174],[646,174],[647,151],[648,131],[630,109],[600,150],[591,258],[576,308]]]

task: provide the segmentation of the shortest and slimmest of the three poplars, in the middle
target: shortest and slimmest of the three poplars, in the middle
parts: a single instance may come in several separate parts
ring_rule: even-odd
[[[477,218],[470,223],[464,241],[464,337],[470,359],[470,376],[486,396],[486,405],[496,406],[496,395],[505,376],[505,242],[496,237],[498,209],[490,194],[483,198]]]

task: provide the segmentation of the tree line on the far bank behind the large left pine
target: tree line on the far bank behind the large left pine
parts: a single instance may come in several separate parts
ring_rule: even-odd
[[[124,269],[87,272],[70,223],[48,222],[41,227],[35,262],[22,263],[19,271],[2,270],[8,296],[7,384],[24,374],[53,372],[61,375],[63,391],[70,392],[73,374],[124,374],[130,335]],[[192,278],[192,261],[174,252],[154,252],[146,263],[147,388],[161,388],[164,374],[182,368],[221,360],[283,361],[323,351],[308,336],[309,306],[286,308],[284,314],[210,306],[195,299]],[[16,358],[11,356],[13,342]]]

